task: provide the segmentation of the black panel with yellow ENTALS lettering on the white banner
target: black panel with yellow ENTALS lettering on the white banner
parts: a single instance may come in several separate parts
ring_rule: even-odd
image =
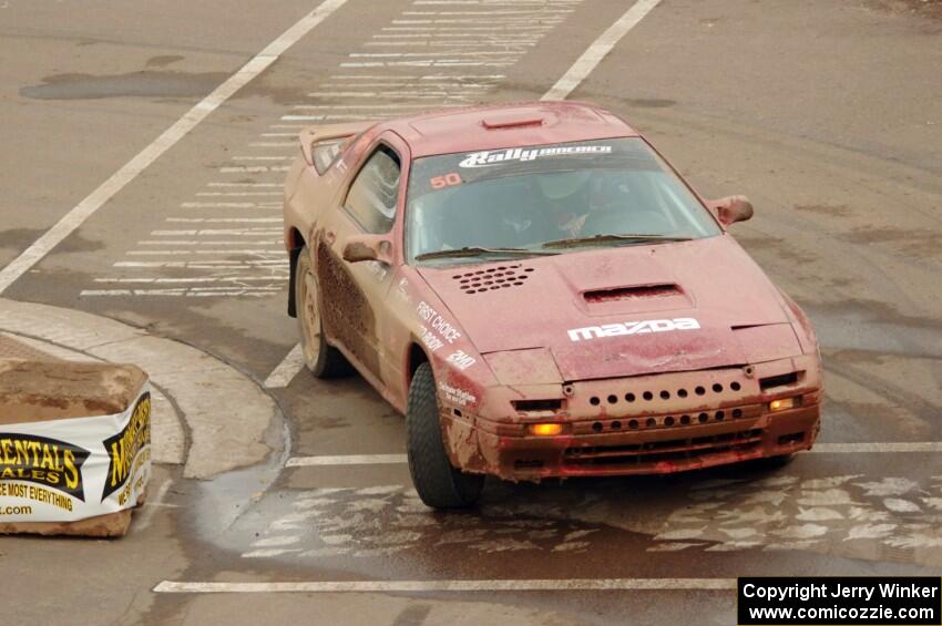
[[[0,481],[35,483],[84,502],[82,463],[88,458],[88,450],[64,441],[34,434],[0,433]],[[13,485],[8,489],[12,490]]]

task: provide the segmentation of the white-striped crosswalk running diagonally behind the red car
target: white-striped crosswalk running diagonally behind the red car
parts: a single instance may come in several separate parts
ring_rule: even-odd
[[[280,225],[284,176],[301,129],[484,102],[505,78],[506,68],[581,2],[413,2],[359,50],[349,51],[334,73],[311,85],[306,101],[289,105],[257,141],[219,158],[216,178],[193,199],[180,203],[182,215],[167,217],[166,228],[136,242],[125,259],[113,265],[113,274],[93,278],[81,295],[284,298],[288,263],[276,225]],[[248,228],[268,222],[270,229]],[[223,224],[233,227],[209,227]],[[290,368],[297,372],[296,357],[294,350],[276,370],[284,372],[276,377],[276,386],[290,381]]]

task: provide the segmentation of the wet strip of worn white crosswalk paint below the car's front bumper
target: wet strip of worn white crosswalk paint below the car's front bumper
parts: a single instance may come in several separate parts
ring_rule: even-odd
[[[542,493],[498,485],[489,502],[464,514],[431,513],[405,485],[280,492],[279,512],[265,516],[267,527],[256,531],[242,555],[349,563],[396,555],[408,561],[457,548],[468,557],[582,558],[622,533],[647,537],[642,550],[648,553],[798,551],[942,563],[942,475],[778,473],[679,480],[659,489],[655,483],[606,480],[583,485],[595,489]],[[634,505],[617,496],[628,485],[643,492],[632,499]]]

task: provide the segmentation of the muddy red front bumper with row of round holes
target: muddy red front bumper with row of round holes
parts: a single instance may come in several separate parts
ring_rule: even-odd
[[[790,384],[759,383],[797,369],[802,374]],[[480,415],[460,417],[443,407],[442,424],[452,463],[465,471],[515,481],[665,474],[810,449],[820,428],[820,382],[811,358],[583,381],[566,386],[561,410],[494,420],[484,417],[488,406]],[[512,392],[537,398],[547,389]],[[491,409],[500,401],[493,396]],[[777,398],[795,398],[798,406],[771,412]],[[534,422],[559,422],[564,431],[529,434]]]

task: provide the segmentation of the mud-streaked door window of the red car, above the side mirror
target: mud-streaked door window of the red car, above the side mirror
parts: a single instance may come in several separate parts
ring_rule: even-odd
[[[399,156],[381,145],[350,185],[344,206],[367,233],[381,235],[392,228],[399,196]]]

